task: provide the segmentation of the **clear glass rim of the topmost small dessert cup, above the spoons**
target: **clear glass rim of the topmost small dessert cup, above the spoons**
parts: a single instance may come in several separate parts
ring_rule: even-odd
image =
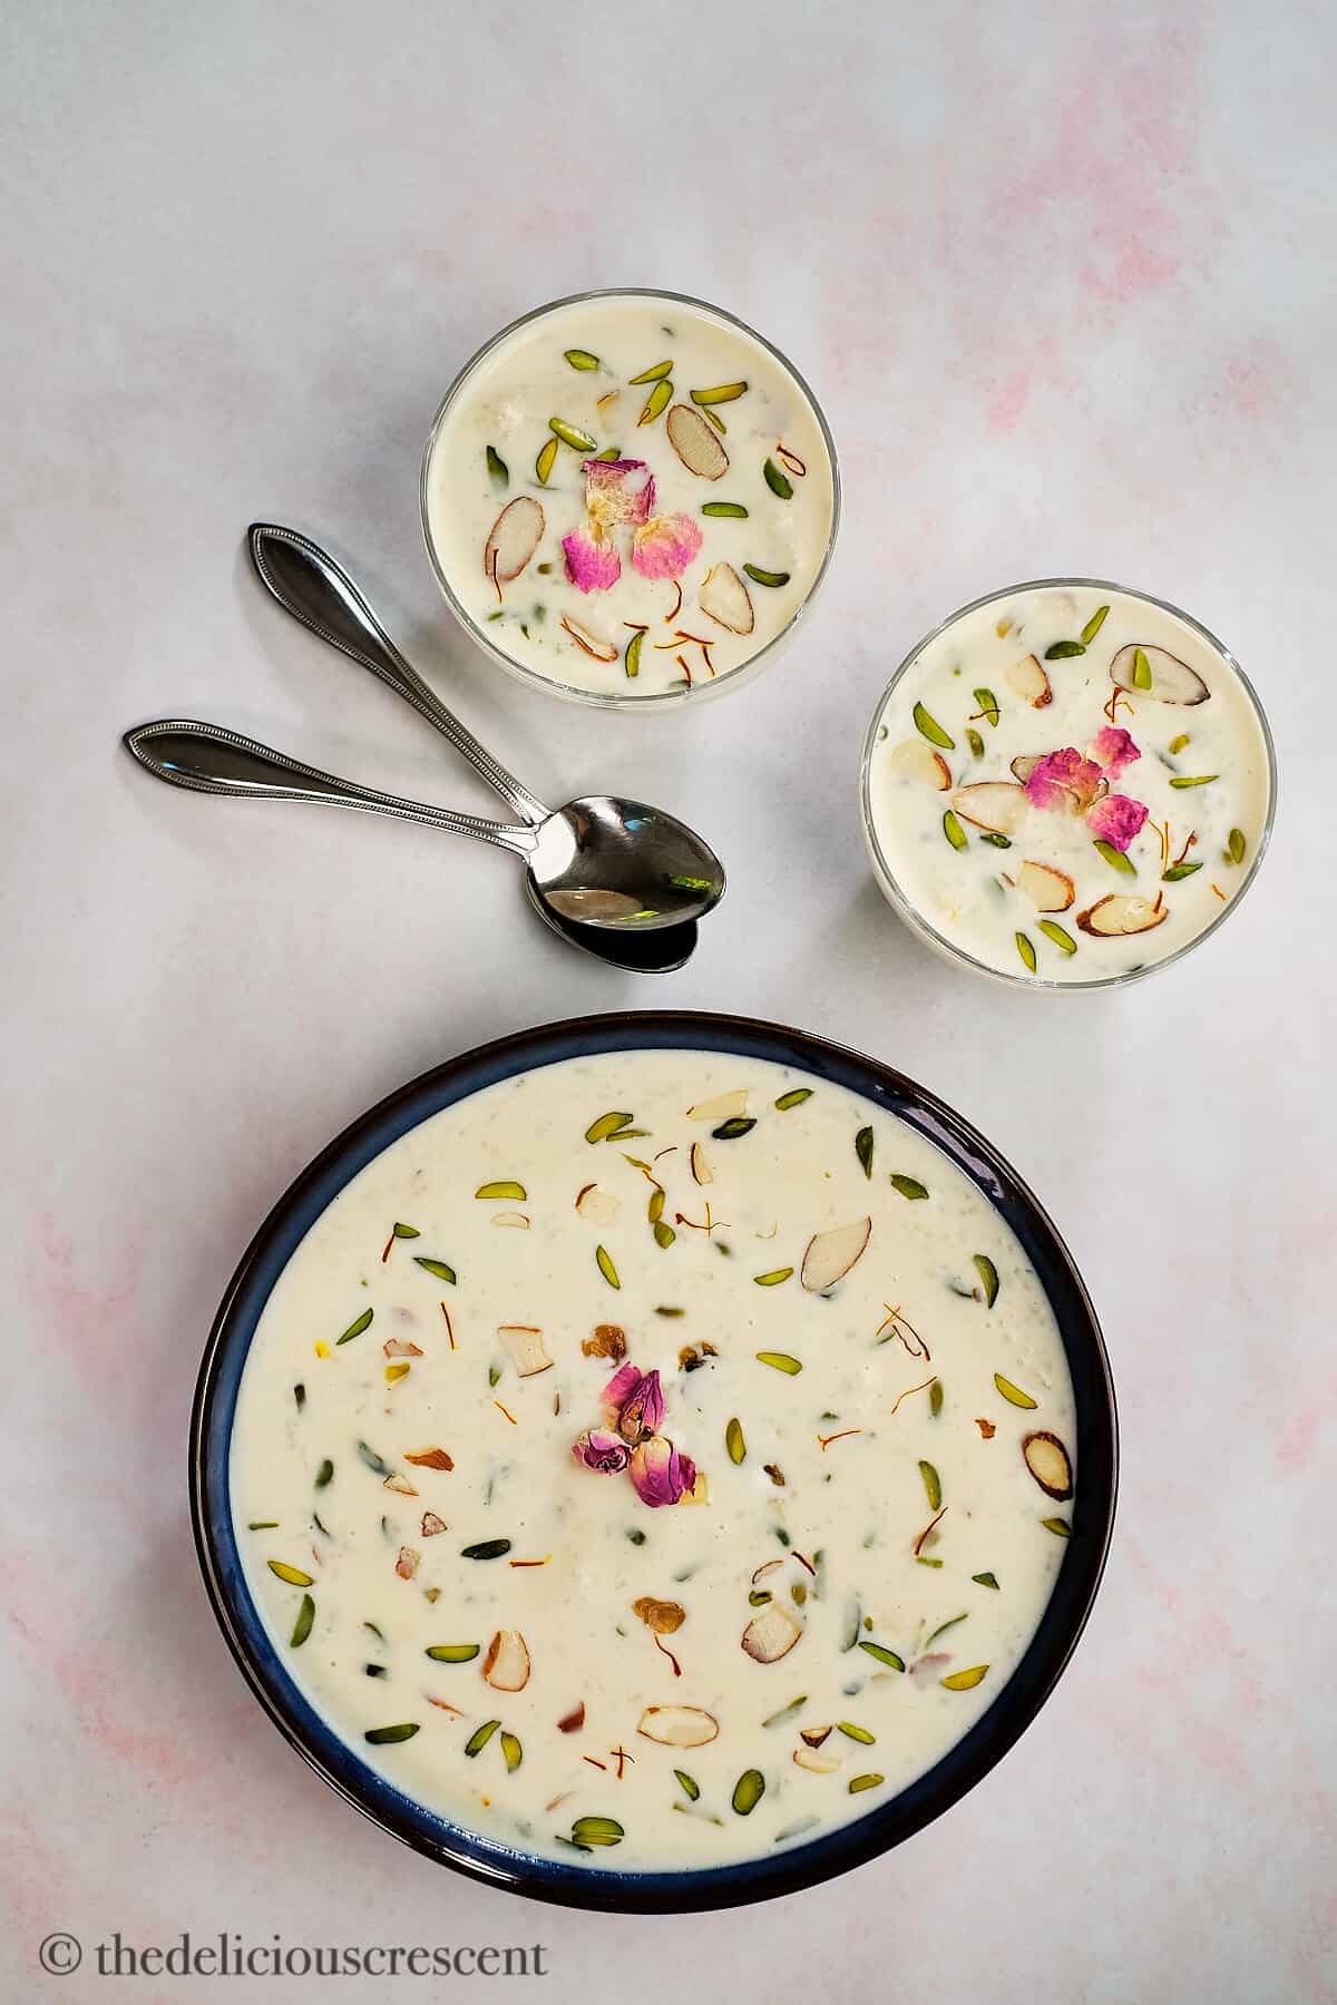
[[[581,690],[571,682],[559,682],[555,676],[541,676],[535,668],[529,668],[525,662],[517,662],[513,656],[505,654],[505,650],[493,642],[493,638],[479,626],[473,614],[455,595],[455,587],[447,577],[445,565],[441,563],[431,533],[427,487],[429,487],[431,461],[437,447],[437,433],[441,431],[441,425],[445,423],[447,411],[455,403],[457,393],[465,387],[465,381],[473,375],[479,363],[483,363],[493,353],[493,349],[501,347],[503,341],[509,341],[511,335],[519,333],[521,327],[529,327],[531,321],[541,321],[549,313],[557,313],[563,307],[581,307],[593,299],[665,299],[676,307],[692,307],[696,313],[714,315],[718,321],[724,321],[728,327],[746,335],[750,341],[756,341],[756,345],[764,349],[768,355],[772,355],[780,363],[780,367],[794,379],[794,383],[798,383],[802,395],[808,399],[812,415],[816,417],[818,423],[822,445],[826,447],[826,459],[832,469],[832,521],[826,533],[826,549],[822,553],[822,563],[818,565],[812,585],[808,587],[800,604],[794,608],[786,624],[780,628],[780,632],[772,634],[772,638],[766,642],[764,648],[758,648],[756,654],[750,654],[746,658],[746,662],[740,662],[736,668],[726,670],[712,682],[698,684],[696,690],[655,690],[653,694],[647,696],[627,696],[625,692],[619,690]],[[427,443],[423,445],[423,459],[419,467],[419,517],[423,523],[423,543],[427,545],[427,561],[431,563],[433,575],[437,579],[437,585],[441,587],[445,604],[459,620],[463,632],[483,650],[483,654],[491,656],[493,662],[505,668],[527,688],[541,690],[545,696],[557,696],[563,702],[571,704],[585,704],[587,708],[593,710],[645,712],[647,716],[682,708],[682,704],[690,702],[692,698],[696,698],[696,702],[700,704],[702,696],[722,696],[726,690],[738,688],[738,684],[744,678],[750,678],[756,670],[760,670],[760,666],[768,660],[768,656],[776,652],[776,648],[782,642],[794,636],[796,628],[804,620],[804,614],[808,612],[818,591],[822,589],[822,583],[830,569],[832,555],[836,551],[836,537],[840,533],[840,511],[842,511],[840,459],[836,457],[836,441],[826,421],[826,411],[818,403],[818,395],[812,389],[812,383],[808,383],[802,371],[794,367],[790,357],[782,349],[778,349],[774,341],[768,341],[766,335],[760,335],[756,327],[748,325],[748,321],[740,321],[740,317],[736,313],[730,313],[728,307],[716,307],[708,299],[694,299],[692,293],[665,293],[655,285],[603,285],[603,287],[593,287],[587,293],[567,293],[561,299],[545,301],[545,305],[541,307],[531,307],[529,313],[521,313],[515,321],[509,321],[505,327],[501,327],[479,349],[475,349],[469,361],[451,379],[445,397],[437,405],[437,415],[431,421],[431,429],[427,433]]]

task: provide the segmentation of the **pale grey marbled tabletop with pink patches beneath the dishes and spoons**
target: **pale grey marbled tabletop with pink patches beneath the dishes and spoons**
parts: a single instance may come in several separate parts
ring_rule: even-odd
[[[8,26],[6,1997],[269,1997],[90,1973],[114,1929],[227,1929],[539,1941],[543,1995],[645,2005],[1331,1999],[1331,10],[128,0]],[[457,363],[615,283],[766,329],[846,477],[802,642],[665,722],[499,680],[417,525]],[[253,515],[349,555],[539,794],[615,786],[712,834],[732,890],[690,968],[579,960],[505,856],[130,768],[120,730],[184,712],[487,806],[261,597]],[[1046,1002],[900,930],[854,778],[904,648],[1056,571],[1227,638],[1283,802],[1209,948]],[[184,1496],[204,1331],[295,1171],[449,1053],[649,1002],[802,1023],[978,1121],[1074,1249],[1125,1428],[1106,1586],[1024,1742],[900,1853],[690,1931],[527,1907],[345,1811],[247,1696]],[[36,1965],[56,1929],[86,1945],[68,1981]]]

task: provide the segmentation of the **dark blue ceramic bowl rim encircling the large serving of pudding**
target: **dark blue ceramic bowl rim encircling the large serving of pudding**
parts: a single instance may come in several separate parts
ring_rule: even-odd
[[[299,1241],[373,1157],[443,1107],[499,1079],[603,1051],[724,1051],[770,1059],[862,1093],[950,1155],[1020,1239],[1058,1319],[1076,1397],[1080,1486],[1072,1538],[1040,1626],[994,1704],[948,1754],[890,1802],[808,1845],[702,1873],[611,1873],[535,1859],[465,1831],[365,1766],[313,1710],[265,1632],[243,1574],[229,1502],[237,1391],[261,1311]],[[864,1865],[950,1809],[1002,1760],[1052,1692],[1086,1624],[1115,1522],[1119,1434],[1100,1325],[1048,1215],[968,1121],[874,1059],[744,1017],[647,1011],[545,1025],[451,1059],[355,1121],[279,1199],[222,1299],[190,1420],[190,1512],[204,1584],[233,1656],[283,1736],[331,1788],[415,1851],[537,1901],[601,1913],[690,1913],[796,1893]]]

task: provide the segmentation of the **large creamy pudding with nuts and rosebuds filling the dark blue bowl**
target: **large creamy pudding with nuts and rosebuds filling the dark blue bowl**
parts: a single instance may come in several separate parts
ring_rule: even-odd
[[[435,1115],[281,1275],[231,1450],[275,1650],[529,1855],[704,1869],[924,1774],[1064,1558],[1048,1299],[926,1139],[720,1053]]]

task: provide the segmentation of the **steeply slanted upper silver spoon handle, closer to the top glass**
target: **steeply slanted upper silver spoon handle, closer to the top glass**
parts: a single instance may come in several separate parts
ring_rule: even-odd
[[[397,696],[427,718],[443,738],[461,752],[479,778],[501,794],[521,820],[537,826],[547,820],[541,800],[521,786],[491,752],[477,742],[445,704],[433,696],[415,668],[409,668],[371,606],[349,573],[297,529],[281,529],[271,521],[253,521],[247,533],[251,561],[267,591],[305,628],[327,640],[331,648],[351,656],[361,668],[389,684]]]

